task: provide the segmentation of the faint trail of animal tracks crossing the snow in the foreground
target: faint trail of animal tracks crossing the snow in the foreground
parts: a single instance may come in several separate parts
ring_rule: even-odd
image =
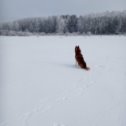
[[[40,100],[40,103],[36,105],[36,107],[34,107],[31,111],[22,113],[21,115],[18,115],[17,117],[15,117],[15,119],[13,120],[2,122],[0,126],[9,126],[10,123],[13,124],[13,122],[15,121],[24,122],[24,126],[29,126],[29,119],[33,117],[34,115],[39,114],[39,113],[44,114],[64,102],[71,102],[71,100],[74,97],[81,96],[86,89],[88,89],[90,86],[94,84],[93,82],[90,82],[89,84],[83,84],[82,79],[80,79],[78,82],[80,81],[81,81],[81,84],[77,83],[76,85],[73,86],[72,89],[69,89],[69,92],[64,91],[64,95],[58,98],[55,98],[55,100],[53,101],[51,101],[50,99],[45,100],[45,101]],[[64,126],[64,125],[55,123],[53,126]]]

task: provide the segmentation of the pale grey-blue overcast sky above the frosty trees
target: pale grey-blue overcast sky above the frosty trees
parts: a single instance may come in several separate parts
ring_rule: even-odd
[[[0,0],[0,21],[126,10],[126,0]]]

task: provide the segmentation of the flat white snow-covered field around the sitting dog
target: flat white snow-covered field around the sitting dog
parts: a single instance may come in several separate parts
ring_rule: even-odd
[[[126,36],[0,37],[0,62],[0,126],[126,126]]]

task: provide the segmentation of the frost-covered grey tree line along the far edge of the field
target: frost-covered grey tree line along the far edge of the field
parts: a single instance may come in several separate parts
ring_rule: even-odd
[[[0,24],[0,35],[126,34],[126,11],[86,16],[61,15]]]

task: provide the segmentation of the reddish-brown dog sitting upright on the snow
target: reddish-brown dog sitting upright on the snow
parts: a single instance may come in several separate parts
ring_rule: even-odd
[[[89,70],[90,68],[87,67],[87,64],[81,54],[81,49],[79,46],[75,46],[75,59],[78,66],[82,69]]]

